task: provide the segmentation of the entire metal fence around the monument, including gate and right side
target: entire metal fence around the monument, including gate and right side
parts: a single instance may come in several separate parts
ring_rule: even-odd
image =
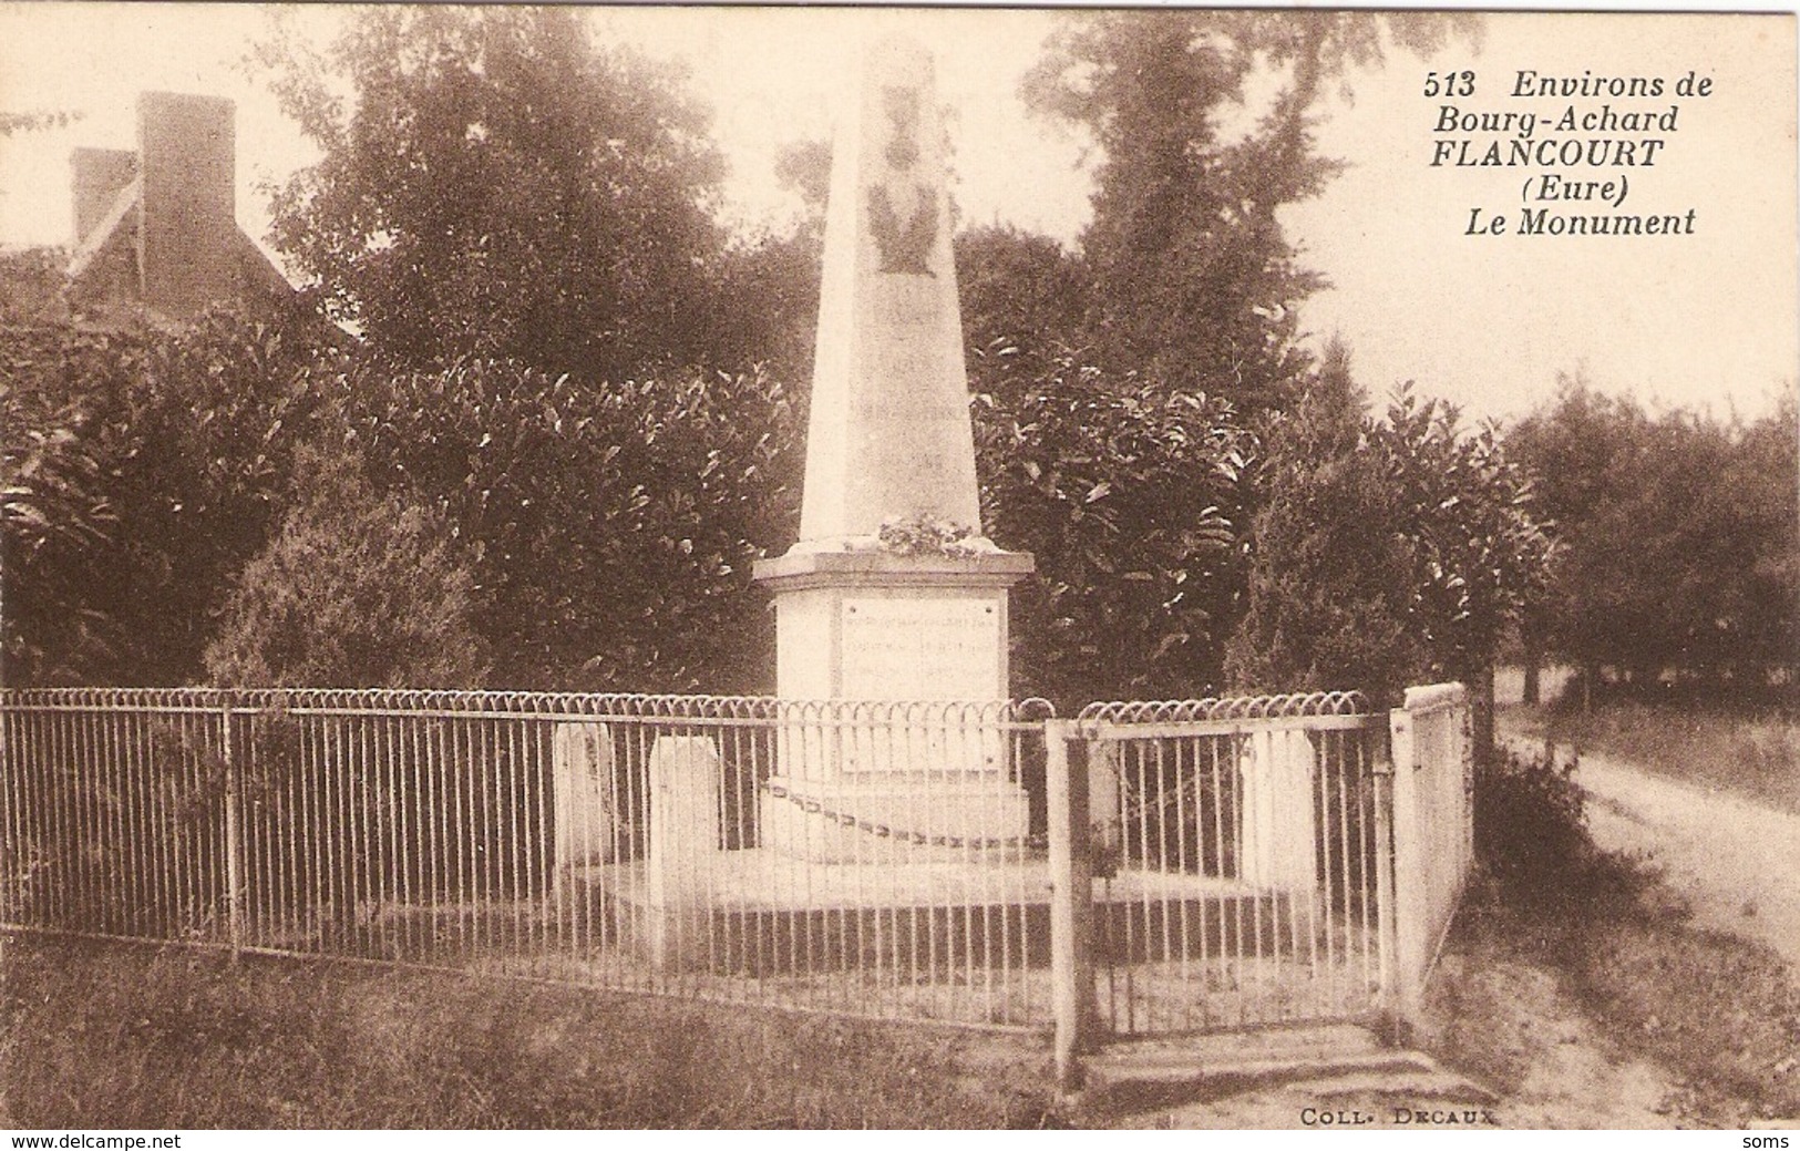
[[[0,926],[1141,1036],[1409,1011],[1458,684],[1022,704],[0,692]]]

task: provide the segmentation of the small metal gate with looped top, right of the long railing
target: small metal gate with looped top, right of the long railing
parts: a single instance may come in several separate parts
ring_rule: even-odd
[[[1359,697],[1102,706],[1080,724],[1112,1034],[1381,1007],[1375,755]]]

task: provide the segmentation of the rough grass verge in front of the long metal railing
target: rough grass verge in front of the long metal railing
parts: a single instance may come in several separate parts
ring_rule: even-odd
[[[0,937],[16,1128],[1021,1128],[1048,1048],[360,964]]]

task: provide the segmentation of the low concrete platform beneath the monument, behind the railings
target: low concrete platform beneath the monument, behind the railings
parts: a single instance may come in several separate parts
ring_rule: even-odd
[[[581,913],[664,964],[736,974],[1049,965],[1049,868],[1021,852],[911,863],[814,863],[767,848],[691,861],[652,895],[643,861],[574,875]],[[1292,895],[1231,879],[1121,872],[1096,886],[1107,964],[1305,955],[1312,917]],[[1310,899],[1310,893],[1307,895]]]

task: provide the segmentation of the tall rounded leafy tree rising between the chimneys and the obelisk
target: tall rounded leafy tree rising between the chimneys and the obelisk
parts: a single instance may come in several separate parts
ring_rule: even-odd
[[[724,169],[675,76],[542,7],[364,9],[322,59],[283,38],[263,59],[324,153],[274,236],[328,315],[412,366],[707,358]]]

